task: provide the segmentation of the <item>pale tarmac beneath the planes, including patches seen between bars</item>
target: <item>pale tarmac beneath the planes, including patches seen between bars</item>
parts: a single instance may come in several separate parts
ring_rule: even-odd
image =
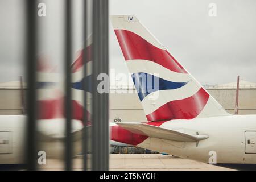
[[[90,159],[88,160],[90,161]],[[227,171],[225,167],[162,154],[110,154],[110,170],[123,171]],[[63,160],[48,159],[42,170],[63,170]],[[73,159],[73,169],[82,170],[82,156]]]

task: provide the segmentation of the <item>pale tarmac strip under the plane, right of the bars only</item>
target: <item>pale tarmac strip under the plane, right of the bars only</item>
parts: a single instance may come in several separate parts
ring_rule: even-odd
[[[182,159],[162,154],[113,154],[110,155],[110,170],[161,170],[161,171],[187,171],[187,170],[231,170],[229,168]]]

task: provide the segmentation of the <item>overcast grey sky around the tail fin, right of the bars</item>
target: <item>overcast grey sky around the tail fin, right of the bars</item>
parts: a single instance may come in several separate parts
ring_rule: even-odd
[[[208,5],[217,5],[217,16]],[[225,84],[237,75],[256,82],[256,1],[112,0],[110,14],[132,14],[201,84]],[[110,27],[110,65],[127,71]]]

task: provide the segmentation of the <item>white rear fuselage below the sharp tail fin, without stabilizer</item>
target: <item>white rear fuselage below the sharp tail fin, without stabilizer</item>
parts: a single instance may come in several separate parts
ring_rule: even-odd
[[[245,138],[247,131],[254,131],[250,133],[253,135],[250,142],[256,143],[256,115],[178,119],[165,122],[160,127],[191,134],[207,134],[209,138],[198,143],[147,138],[138,146],[204,163],[208,163],[210,156],[216,152],[217,164],[256,164],[256,144],[246,148],[248,143]]]

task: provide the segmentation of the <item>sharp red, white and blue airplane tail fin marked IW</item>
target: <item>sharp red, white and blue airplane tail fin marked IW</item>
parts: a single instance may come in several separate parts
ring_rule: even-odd
[[[148,121],[229,115],[135,16],[111,20]]]

